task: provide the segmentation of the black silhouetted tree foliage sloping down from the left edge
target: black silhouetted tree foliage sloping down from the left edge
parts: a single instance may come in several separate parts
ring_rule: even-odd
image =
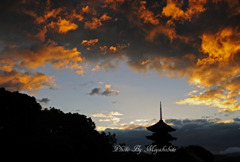
[[[95,128],[85,115],[42,110],[34,97],[0,89],[1,158],[7,161],[107,161],[115,135]]]

